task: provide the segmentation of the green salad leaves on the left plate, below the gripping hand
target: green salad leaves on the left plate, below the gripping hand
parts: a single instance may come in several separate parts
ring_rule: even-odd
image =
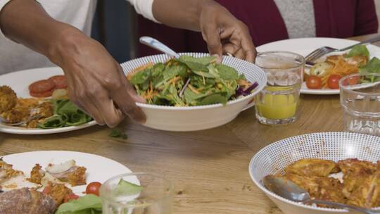
[[[53,116],[46,118],[37,127],[42,129],[53,129],[58,127],[68,127],[82,125],[92,120],[80,108],[75,106],[70,99],[51,99],[53,103]]]

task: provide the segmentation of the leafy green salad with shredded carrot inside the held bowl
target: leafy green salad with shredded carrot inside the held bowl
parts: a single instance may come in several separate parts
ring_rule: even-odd
[[[213,56],[181,56],[137,68],[127,78],[139,96],[160,106],[203,106],[251,94],[258,86]]]

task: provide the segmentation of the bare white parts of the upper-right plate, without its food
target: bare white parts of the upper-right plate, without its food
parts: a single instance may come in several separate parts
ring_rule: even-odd
[[[346,46],[357,44],[357,41],[349,39],[336,38],[301,38],[301,39],[286,39],[277,42],[263,44],[257,47],[258,52],[265,51],[291,51],[302,56],[307,56],[309,53],[322,46],[331,46],[336,49],[341,49]],[[370,56],[380,58],[380,47],[372,44],[367,45]],[[339,89],[308,89],[305,82],[301,87],[302,94],[339,94]]]

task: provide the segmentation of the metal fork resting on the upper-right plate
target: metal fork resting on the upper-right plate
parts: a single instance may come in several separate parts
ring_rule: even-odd
[[[325,56],[327,53],[332,53],[332,52],[338,52],[338,51],[347,51],[348,49],[352,49],[353,46],[358,45],[358,44],[371,44],[373,42],[379,42],[380,41],[380,36],[374,37],[372,39],[367,39],[365,41],[359,42],[357,44],[353,44],[351,46],[348,46],[343,49],[334,49],[329,46],[322,46],[319,49],[316,49],[315,51],[312,51],[309,53],[308,56],[305,56],[305,61],[308,65],[314,65],[315,61],[317,61],[318,58],[321,58],[322,56]]]

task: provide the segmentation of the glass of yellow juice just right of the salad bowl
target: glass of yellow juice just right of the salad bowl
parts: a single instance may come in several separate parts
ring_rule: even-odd
[[[288,51],[269,51],[258,54],[256,65],[268,77],[267,86],[255,97],[256,118],[266,125],[296,121],[305,58]]]

